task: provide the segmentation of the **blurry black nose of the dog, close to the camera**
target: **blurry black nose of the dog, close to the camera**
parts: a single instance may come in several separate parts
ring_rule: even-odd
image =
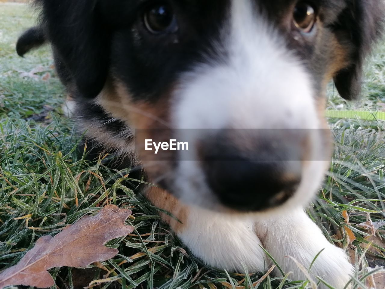
[[[288,160],[288,150],[277,146],[259,148],[251,154],[222,144],[206,152],[206,181],[226,207],[239,211],[277,207],[292,197],[300,185],[302,161],[293,156],[293,151],[292,160]]]

